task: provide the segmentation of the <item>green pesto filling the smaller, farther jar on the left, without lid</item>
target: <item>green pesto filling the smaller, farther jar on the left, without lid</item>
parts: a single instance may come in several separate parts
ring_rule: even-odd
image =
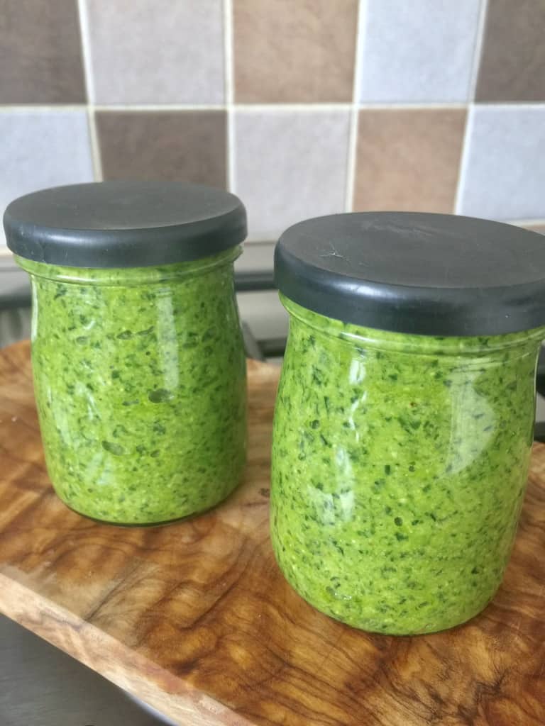
[[[59,497],[89,517],[153,524],[212,507],[246,456],[240,248],[161,267],[31,273],[41,436]]]

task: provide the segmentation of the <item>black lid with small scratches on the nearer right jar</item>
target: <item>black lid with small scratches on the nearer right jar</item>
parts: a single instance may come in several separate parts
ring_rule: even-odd
[[[299,305],[365,327],[501,335],[545,325],[545,239],[449,214],[336,214],[294,224],[275,282]]]

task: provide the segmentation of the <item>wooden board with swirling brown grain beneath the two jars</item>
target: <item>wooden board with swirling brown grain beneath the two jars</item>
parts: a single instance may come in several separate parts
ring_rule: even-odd
[[[184,726],[543,726],[545,446],[485,612],[437,635],[367,635],[313,610],[275,564],[277,382],[277,368],[249,362],[238,492],[191,521],[123,529],[55,497],[28,343],[1,351],[0,610]]]

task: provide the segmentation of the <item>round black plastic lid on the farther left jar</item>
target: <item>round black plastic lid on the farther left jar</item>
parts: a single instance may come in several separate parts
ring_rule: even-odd
[[[7,246],[69,267],[144,267],[214,255],[246,237],[246,210],[222,189],[102,181],[43,189],[4,213]]]

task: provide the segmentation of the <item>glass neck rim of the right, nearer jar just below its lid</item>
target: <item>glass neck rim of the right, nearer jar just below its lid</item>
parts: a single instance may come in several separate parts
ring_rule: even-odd
[[[429,356],[488,357],[493,354],[520,356],[537,349],[545,338],[545,327],[506,335],[436,336],[394,333],[389,330],[353,325],[326,317],[294,303],[280,293],[280,301],[293,319],[312,327],[319,335],[336,338],[360,348],[375,348],[401,354]],[[522,350],[521,350],[522,348]]]

